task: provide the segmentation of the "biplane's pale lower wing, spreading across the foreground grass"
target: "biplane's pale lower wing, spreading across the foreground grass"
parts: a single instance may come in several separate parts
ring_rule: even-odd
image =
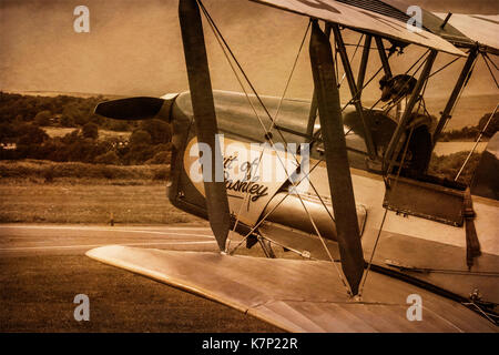
[[[497,332],[465,306],[371,272],[361,302],[350,300],[328,262],[227,256],[126,246],[88,256],[221,302],[291,332]],[[422,300],[408,321],[409,295]]]

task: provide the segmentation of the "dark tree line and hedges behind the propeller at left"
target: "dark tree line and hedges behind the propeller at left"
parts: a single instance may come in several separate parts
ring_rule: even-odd
[[[93,113],[105,98],[30,97],[0,92],[0,159],[115,165],[170,163],[171,128],[163,120],[116,121]],[[73,128],[49,136],[43,128]],[[100,130],[131,132],[100,138]]]

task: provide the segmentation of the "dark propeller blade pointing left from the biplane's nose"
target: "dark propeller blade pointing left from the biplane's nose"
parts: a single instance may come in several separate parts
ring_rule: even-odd
[[[114,120],[147,120],[160,113],[165,100],[159,98],[129,98],[101,102],[95,113]]]

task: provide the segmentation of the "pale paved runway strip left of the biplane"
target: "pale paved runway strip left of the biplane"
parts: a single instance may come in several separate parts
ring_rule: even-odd
[[[110,244],[217,251],[211,230],[204,226],[0,225],[0,256],[83,254]]]

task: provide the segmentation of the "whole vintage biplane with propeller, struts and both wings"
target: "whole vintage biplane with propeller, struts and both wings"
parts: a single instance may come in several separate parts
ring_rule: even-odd
[[[95,109],[171,123],[167,196],[210,221],[220,252],[110,245],[86,255],[289,332],[497,332],[499,135],[469,185],[430,175],[428,164],[477,60],[497,70],[499,18],[422,10],[411,28],[404,1],[255,2],[309,18],[301,50],[309,38],[312,102],[259,95],[202,1],[180,0],[190,91]],[[202,16],[242,92],[212,89]],[[356,73],[346,31],[364,39]],[[409,45],[426,52],[393,73],[391,55]],[[434,68],[440,52],[465,63],[432,119],[424,93],[444,69]],[[366,80],[373,55],[381,67]],[[377,74],[383,110],[363,104]],[[237,255],[244,244],[266,257]],[[301,257],[278,258],[276,247]]]

